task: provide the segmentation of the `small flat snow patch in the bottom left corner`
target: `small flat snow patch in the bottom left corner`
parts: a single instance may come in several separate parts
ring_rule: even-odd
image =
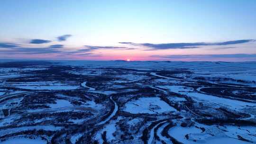
[[[0,142],[0,144],[46,144],[46,141],[41,139],[29,139],[29,138],[13,138],[7,141]]]

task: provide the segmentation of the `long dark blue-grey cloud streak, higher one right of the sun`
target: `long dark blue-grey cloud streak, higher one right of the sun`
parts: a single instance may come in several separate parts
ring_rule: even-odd
[[[244,39],[244,40],[235,40],[235,41],[226,41],[226,42],[219,42],[219,43],[168,43],[168,44],[151,44],[151,43],[131,43],[131,42],[119,42],[120,44],[127,44],[127,45],[137,45],[137,46],[146,46],[151,48],[150,50],[161,50],[161,49],[187,49],[187,48],[199,48],[199,46],[205,45],[236,45],[236,44],[243,44],[248,42],[254,42],[255,40],[252,39]]]

